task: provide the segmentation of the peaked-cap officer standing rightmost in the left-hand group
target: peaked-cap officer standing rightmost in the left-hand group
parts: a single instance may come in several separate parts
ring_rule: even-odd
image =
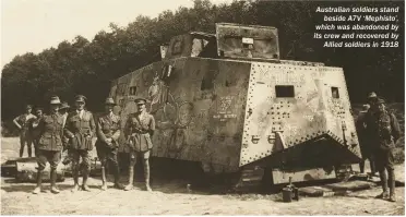
[[[126,140],[130,146],[129,184],[124,190],[129,191],[133,188],[134,165],[136,157],[141,156],[144,161],[145,188],[151,192],[148,158],[153,147],[151,137],[155,131],[155,120],[145,110],[146,99],[138,98],[134,101],[138,106],[138,112],[129,114],[124,126]]]

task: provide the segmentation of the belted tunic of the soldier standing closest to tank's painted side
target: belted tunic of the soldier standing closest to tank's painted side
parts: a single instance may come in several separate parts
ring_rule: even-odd
[[[152,135],[155,131],[155,119],[147,112],[140,118],[140,112],[130,113],[124,126],[127,144],[134,152],[146,152],[153,147]]]

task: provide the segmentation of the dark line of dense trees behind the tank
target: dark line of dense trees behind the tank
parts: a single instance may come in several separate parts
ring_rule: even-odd
[[[399,48],[323,48],[313,38],[323,17],[318,7],[399,5]],[[318,61],[344,68],[351,101],[363,103],[375,91],[389,101],[404,101],[404,2],[234,1],[215,5],[194,0],[192,8],[164,11],[157,17],[136,16],[124,27],[114,23],[89,41],[82,36],[63,40],[39,53],[16,56],[1,79],[1,117],[10,120],[25,104],[47,105],[51,95],[71,103],[88,98],[87,108],[101,111],[110,82],[160,60],[159,45],[191,31],[215,32],[215,23],[240,23],[278,28],[283,59]],[[135,14],[134,14],[135,16]]]

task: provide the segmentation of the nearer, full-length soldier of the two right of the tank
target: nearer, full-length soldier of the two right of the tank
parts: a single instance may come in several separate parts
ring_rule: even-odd
[[[371,108],[373,112],[367,116],[367,132],[373,145],[373,155],[375,165],[379,171],[383,192],[378,195],[379,198],[387,198],[395,202],[395,172],[394,172],[394,156],[393,149],[395,142],[401,137],[399,124],[396,117],[385,109],[384,100],[378,99],[377,104]],[[387,195],[389,174],[390,195]]]

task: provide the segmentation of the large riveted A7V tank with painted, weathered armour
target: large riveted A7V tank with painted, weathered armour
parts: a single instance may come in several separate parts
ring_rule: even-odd
[[[241,172],[246,182],[268,170],[274,184],[335,178],[334,167],[359,161],[343,69],[280,60],[276,28],[218,23],[216,34],[176,36],[160,50],[162,61],[110,91],[123,124],[135,98],[150,100],[153,158]]]

